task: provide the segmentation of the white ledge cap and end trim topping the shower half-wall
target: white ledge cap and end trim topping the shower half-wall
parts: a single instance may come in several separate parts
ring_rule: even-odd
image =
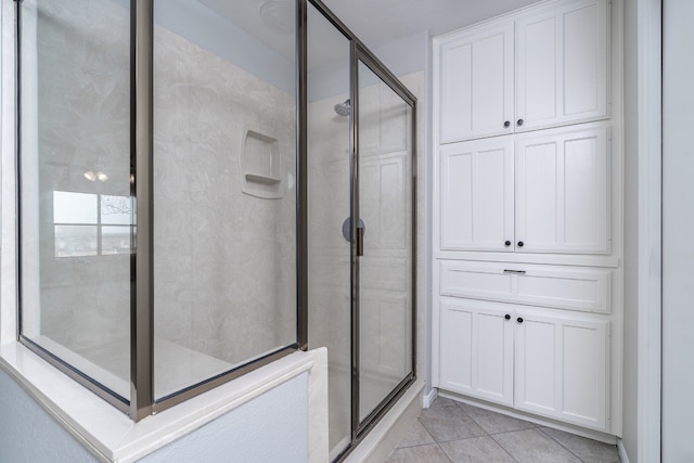
[[[136,423],[20,343],[0,346],[0,368],[102,462],[134,462],[270,389],[308,375],[310,461],[327,458],[327,350],[295,352]],[[314,368],[317,366],[317,368]]]

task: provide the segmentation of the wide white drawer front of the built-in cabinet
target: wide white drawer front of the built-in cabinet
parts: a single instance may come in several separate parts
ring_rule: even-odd
[[[440,294],[609,313],[612,271],[525,263],[442,261]]]

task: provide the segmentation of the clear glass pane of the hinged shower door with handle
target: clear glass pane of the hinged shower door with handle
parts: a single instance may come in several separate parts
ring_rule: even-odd
[[[359,420],[412,371],[412,113],[359,63]]]

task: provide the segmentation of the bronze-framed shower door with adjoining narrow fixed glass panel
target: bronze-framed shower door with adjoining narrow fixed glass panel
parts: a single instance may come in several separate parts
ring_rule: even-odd
[[[414,381],[414,97],[307,12],[309,347],[329,352],[331,459]]]

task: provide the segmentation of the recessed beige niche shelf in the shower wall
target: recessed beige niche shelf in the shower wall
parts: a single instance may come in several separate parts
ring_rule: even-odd
[[[280,142],[274,137],[244,129],[241,142],[241,184],[244,193],[266,200],[284,195]]]

